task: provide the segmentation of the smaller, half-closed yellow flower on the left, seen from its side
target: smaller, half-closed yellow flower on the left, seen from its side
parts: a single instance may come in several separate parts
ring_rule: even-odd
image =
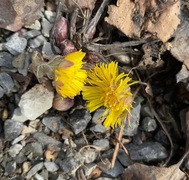
[[[85,53],[76,51],[64,57],[55,70],[56,91],[63,98],[74,98],[84,86],[87,73],[82,69]]]

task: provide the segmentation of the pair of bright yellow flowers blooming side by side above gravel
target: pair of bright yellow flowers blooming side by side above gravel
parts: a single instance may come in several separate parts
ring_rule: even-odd
[[[128,74],[119,74],[118,63],[113,61],[86,71],[82,68],[84,56],[81,51],[65,56],[55,70],[56,91],[63,98],[74,98],[82,91],[90,112],[105,107],[101,115],[105,127],[120,126],[131,111],[133,94],[130,86],[136,81],[132,81]]]

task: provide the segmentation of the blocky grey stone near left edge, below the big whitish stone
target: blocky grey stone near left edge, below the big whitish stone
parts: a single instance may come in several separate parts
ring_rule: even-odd
[[[18,135],[20,135],[22,129],[22,123],[13,121],[11,119],[6,120],[4,124],[5,139],[7,141],[12,141]]]

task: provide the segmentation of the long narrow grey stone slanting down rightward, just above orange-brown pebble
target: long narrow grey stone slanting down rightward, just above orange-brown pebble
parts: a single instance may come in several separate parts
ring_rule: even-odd
[[[49,144],[55,145],[55,146],[61,146],[62,143],[60,141],[57,141],[53,139],[52,137],[47,136],[46,134],[37,132],[33,135],[33,137],[43,146],[47,146]]]

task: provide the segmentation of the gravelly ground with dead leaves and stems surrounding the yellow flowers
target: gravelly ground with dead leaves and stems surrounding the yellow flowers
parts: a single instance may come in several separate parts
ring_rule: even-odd
[[[121,1],[120,14],[116,1],[34,2],[0,14],[0,179],[187,179],[188,2],[124,1],[138,8],[127,10],[135,21],[124,19]],[[103,108],[89,113],[80,95],[55,103],[49,64],[76,49],[89,65],[116,60],[139,81],[121,141],[119,128],[98,123]]]

